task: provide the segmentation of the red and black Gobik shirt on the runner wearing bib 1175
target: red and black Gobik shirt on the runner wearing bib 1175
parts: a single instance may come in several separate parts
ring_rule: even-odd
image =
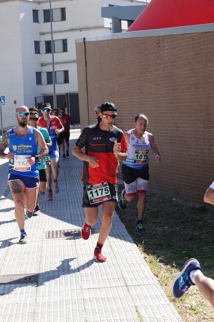
[[[114,141],[121,144],[121,153],[127,151],[126,141],[122,130],[112,125],[111,131],[103,131],[98,124],[85,127],[76,141],[79,148],[85,147],[85,154],[94,156],[99,161],[99,167],[92,168],[87,161],[84,161],[81,181],[89,184],[107,181],[116,183],[115,173],[117,159],[113,153]]]

